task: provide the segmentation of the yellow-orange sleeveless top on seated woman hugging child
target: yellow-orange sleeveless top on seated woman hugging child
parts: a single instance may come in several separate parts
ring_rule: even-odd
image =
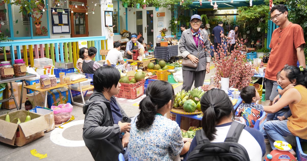
[[[302,85],[293,88],[300,92],[302,99],[296,104],[289,104],[292,115],[288,117],[287,127],[294,136],[307,139],[307,89]]]

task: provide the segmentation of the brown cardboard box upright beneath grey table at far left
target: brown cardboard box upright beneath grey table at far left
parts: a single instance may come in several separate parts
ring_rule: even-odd
[[[12,86],[13,86],[13,92],[14,92],[15,99],[17,101],[17,104],[19,105],[18,84],[16,82],[12,82]],[[10,83],[7,83],[7,86],[5,90],[3,91],[3,99],[7,99],[10,97],[11,95],[10,88],[11,88]],[[3,108],[9,109],[9,110],[16,108],[16,104],[13,98],[2,103],[2,106]]]

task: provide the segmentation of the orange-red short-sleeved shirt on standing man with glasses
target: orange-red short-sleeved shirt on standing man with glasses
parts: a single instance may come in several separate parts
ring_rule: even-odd
[[[273,31],[270,43],[271,54],[266,66],[265,78],[277,81],[276,75],[288,64],[296,66],[296,48],[305,45],[303,29],[300,25],[290,22],[283,29]]]

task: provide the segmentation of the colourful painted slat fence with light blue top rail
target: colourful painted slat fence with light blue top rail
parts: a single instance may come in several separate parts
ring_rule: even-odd
[[[105,36],[80,37],[80,38],[57,38],[57,39],[40,39],[40,40],[24,40],[0,42],[0,47],[3,47],[4,60],[7,61],[6,49],[10,48],[11,64],[14,60],[23,58],[25,63],[34,66],[34,58],[51,58],[53,65],[55,62],[67,61],[73,62],[76,68],[76,62],[79,58],[78,41],[87,41],[87,47],[94,46],[98,53],[95,60],[101,60],[99,51],[107,50],[107,39]]]

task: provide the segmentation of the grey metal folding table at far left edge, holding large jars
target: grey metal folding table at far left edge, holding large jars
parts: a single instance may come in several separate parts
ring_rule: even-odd
[[[11,95],[9,98],[7,99],[2,99],[0,100],[0,103],[1,102],[6,102],[10,99],[14,99],[14,102],[15,102],[15,105],[16,105],[16,108],[17,110],[20,110],[21,109],[21,103],[22,103],[22,94],[23,94],[23,84],[24,84],[24,80],[25,79],[28,79],[28,78],[32,78],[32,77],[36,77],[36,74],[30,74],[30,73],[26,73],[25,76],[14,76],[13,78],[8,78],[8,79],[0,79],[0,84],[1,83],[10,83],[10,91],[11,91]],[[22,85],[21,85],[21,95],[20,95],[20,103],[19,103],[19,106],[18,106],[18,103],[16,101],[16,98],[14,96],[14,91],[13,91],[13,85],[12,85],[12,82],[15,82],[15,81],[19,81],[19,80],[22,80]]]

